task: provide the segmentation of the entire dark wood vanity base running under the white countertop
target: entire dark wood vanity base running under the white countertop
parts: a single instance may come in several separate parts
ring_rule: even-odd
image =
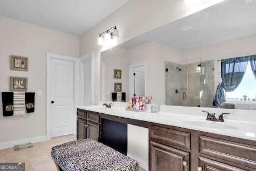
[[[256,142],[253,140],[87,110],[77,110],[77,139],[91,138],[101,142],[104,138],[101,133],[109,128],[107,123],[116,122],[149,128],[149,171],[256,170]]]

